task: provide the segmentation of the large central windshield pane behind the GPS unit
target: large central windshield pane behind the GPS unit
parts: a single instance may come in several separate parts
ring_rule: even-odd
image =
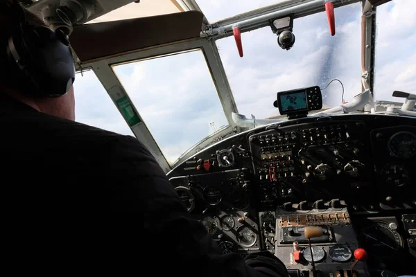
[[[289,51],[277,45],[270,27],[241,35],[243,57],[234,37],[216,41],[240,114],[277,116],[279,111],[273,107],[277,92],[324,88],[334,78],[343,82],[345,101],[361,93],[361,3],[336,8],[335,15],[335,36],[329,33],[325,12],[295,19],[296,40]],[[341,85],[332,82],[322,90],[324,106],[343,104],[342,92]]]

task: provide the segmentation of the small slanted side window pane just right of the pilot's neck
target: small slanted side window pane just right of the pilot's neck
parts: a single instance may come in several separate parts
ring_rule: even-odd
[[[77,73],[73,89],[77,122],[135,136],[94,71],[84,72],[83,75]]]

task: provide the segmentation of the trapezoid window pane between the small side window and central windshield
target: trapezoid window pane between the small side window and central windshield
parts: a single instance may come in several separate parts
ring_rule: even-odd
[[[202,51],[114,66],[166,160],[227,125]]]

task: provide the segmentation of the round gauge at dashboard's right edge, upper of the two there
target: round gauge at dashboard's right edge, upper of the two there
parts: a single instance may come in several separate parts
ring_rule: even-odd
[[[410,132],[394,134],[388,142],[392,155],[401,159],[408,159],[416,154],[416,135]]]

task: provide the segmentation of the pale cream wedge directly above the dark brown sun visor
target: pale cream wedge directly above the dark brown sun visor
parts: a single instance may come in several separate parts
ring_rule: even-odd
[[[152,17],[155,15],[167,15],[184,10],[175,0],[140,0],[139,3],[130,3],[126,6],[108,12],[87,23],[116,21],[121,19],[133,19],[139,17]]]

